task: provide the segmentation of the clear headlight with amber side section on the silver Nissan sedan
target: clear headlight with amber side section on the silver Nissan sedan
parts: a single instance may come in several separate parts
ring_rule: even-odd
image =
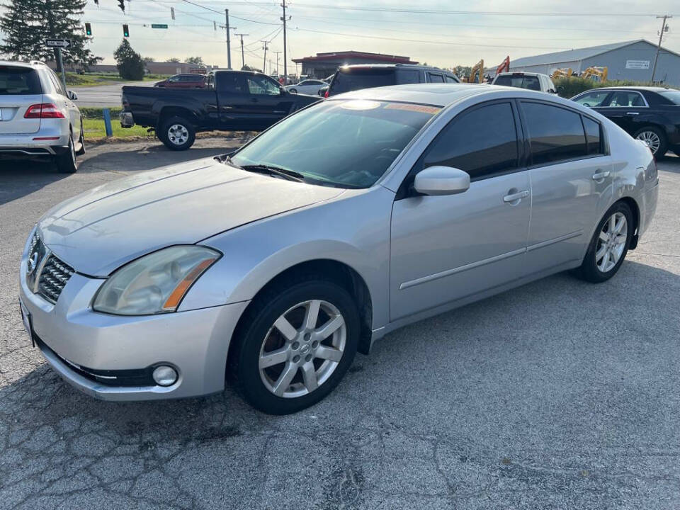
[[[220,256],[205,246],[171,246],[143,256],[115,271],[92,307],[118,315],[174,312],[191,285]]]

